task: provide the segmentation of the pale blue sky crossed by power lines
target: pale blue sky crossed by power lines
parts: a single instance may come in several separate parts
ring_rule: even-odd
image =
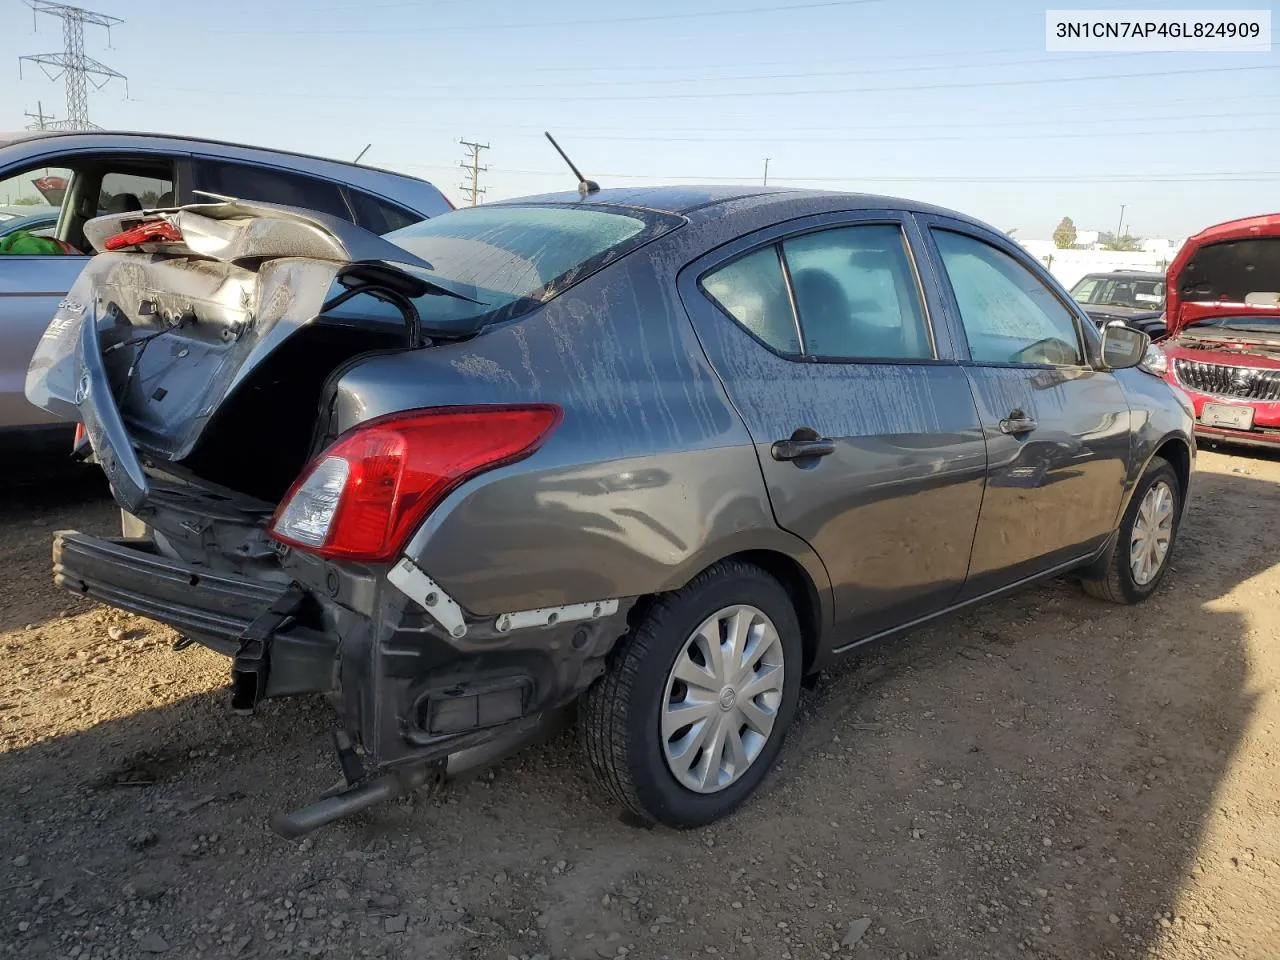
[[[1280,47],[1044,50],[1028,0],[81,0],[124,22],[86,52],[128,76],[90,99],[109,129],[232,140],[410,173],[463,202],[572,189],[550,131],[603,187],[759,183],[887,193],[1020,238],[1181,238],[1280,211]],[[1050,3],[1266,9],[1260,0]],[[1272,44],[1280,15],[1272,14]],[[38,29],[37,29],[38,27]],[[61,82],[18,58],[61,24],[0,0],[0,129]]]

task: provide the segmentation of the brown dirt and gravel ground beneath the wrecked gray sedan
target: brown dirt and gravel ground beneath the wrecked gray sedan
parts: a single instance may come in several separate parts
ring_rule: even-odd
[[[323,701],[50,582],[93,480],[0,499],[0,957],[1280,956],[1280,458],[1202,452],[1160,595],[1056,582],[851,659],[712,829],[620,819],[568,735],[288,842]]]

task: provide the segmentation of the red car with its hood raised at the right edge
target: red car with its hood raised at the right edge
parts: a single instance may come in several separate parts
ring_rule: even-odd
[[[1280,447],[1280,214],[1196,234],[1169,266],[1165,379],[1206,439]]]

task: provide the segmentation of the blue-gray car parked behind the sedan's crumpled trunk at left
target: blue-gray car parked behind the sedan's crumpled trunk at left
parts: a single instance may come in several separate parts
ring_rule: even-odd
[[[22,396],[36,340],[88,261],[86,220],[106,212],[189,204],[200,192],[321,210],[387,233],[452,209],[425,180],[337,160],[148,133],[0,134],[0,236],[26,229],[44,250],[0,253],[0,449],[69,449],[60,425]],[[12,215],[12,216],[10,216]]]

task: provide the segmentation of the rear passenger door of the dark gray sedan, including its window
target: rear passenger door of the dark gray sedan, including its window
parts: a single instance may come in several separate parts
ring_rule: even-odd
[[[954,600],[982,500],[978,413],[914,230],[892,210],[806,218],[680,278],[780,526],[827,566],[841,645]]]

